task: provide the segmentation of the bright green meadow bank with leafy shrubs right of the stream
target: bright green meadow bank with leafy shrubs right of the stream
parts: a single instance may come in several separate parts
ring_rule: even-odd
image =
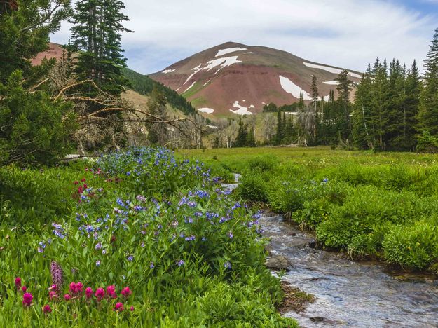
[[[242,198],[315,230],[325,247],[438,273],[438,156],[324,147],[180,153],[242,173]]]

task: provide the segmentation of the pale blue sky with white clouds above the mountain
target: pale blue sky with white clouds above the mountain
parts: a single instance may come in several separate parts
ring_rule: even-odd
[[[376,57],[420,67],[438,27],[438,0],[126,0],[128,67],[161,71],[227,41],[285,50],[364,71]],[[67,43],[69,24],[51,36]]]

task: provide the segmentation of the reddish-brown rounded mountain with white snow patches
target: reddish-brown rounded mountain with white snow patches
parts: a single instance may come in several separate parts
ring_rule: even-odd
[[[214,116],[256,114],[264,104],[310,100],[312,76],[320,96],[336,90],[343,68],[303,60],[282,50],[227,42],[149,76],[183,95],[193,107]],[[350,71],[359,82],[362,74]]]

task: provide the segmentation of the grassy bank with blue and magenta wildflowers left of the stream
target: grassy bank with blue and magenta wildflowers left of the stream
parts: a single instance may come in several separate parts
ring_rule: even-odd
[[[216,168],[215,170],[225,170]],[[165,149],[0,170],[0,322],[295,327],[257,214]],[[19,279],[17,279],[19,278]]]

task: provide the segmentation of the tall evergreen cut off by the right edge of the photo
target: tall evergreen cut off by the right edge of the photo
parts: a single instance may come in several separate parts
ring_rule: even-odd
[[[420,97],[419,125],[420,132],[429,131],[438,135],[438,28],[430,44],[425,60],[424,88]]]

